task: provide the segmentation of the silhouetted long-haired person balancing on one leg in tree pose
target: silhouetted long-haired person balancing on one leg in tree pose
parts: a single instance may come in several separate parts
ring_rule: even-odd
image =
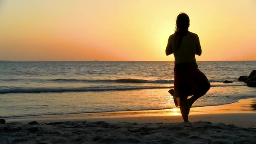
[[[188,31],[190,25],[186,13],[177,16],[175,33],[172,34],[165,49],[167,56],[174,54],[174,89],[168,92],[174,96],[174,103],[180,106],[183,120],[188,121],[188,114],[193,103],[210,89],[207,77],[197,69],[195,55],[200,56],[202,49],[199,37]],[[188,98],[193,95],[191,98]]]

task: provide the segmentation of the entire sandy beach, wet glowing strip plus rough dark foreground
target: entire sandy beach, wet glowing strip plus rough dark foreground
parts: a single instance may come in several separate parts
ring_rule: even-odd
[[[191,123],[182,121],[178,108],[6,118],[0,143],[255,144],[255,104],[249,98],[191,108]]]

